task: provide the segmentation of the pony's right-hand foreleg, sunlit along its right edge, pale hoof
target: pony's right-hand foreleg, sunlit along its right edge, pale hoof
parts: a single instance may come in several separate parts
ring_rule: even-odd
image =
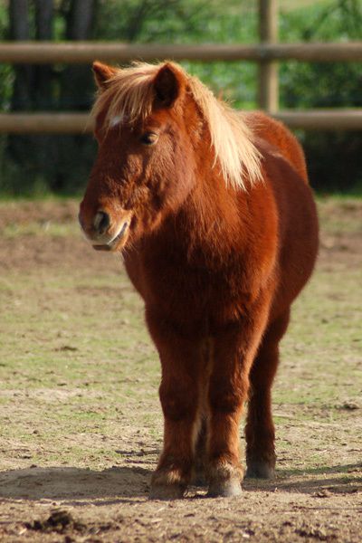
[[[252,359],[267,314],[268,307],[262,305],[243,321],[219,331],[214,338],[214,368],[209,383],[210,496],[235,496],[242,491],[239,424],[248,395]]]

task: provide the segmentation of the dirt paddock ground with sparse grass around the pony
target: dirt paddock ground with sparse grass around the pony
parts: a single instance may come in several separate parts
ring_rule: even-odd
[[[362,202],[319,214],[274,386],[276,479],[151,501],[159,367],[120,258],[81,239],[74,201],[0,204],[1,541],[362,540]]]

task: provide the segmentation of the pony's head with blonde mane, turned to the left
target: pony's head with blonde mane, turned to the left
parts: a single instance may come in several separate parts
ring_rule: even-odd
[[[173,62],[116,69],[95,62],[92,118],[99,152],[80,222],[95,249],[151,232],[200,182],[200,168],[244,187],[259,155],[243,120]],[[202,166],[204,164],[204,167]]]

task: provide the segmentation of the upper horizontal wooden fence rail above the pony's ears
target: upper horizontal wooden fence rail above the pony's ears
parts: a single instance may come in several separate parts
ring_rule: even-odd
[[[361,62],[362,41],[348,43],[204,43],[167,45],[102,42],[3,42],[0,62],[12,64],[84,64],[129,60]]]

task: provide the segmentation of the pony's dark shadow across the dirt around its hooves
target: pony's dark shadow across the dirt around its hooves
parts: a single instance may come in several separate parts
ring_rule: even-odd
[[[353,493],[362,491],[361,464],[330,466],[305,471],[279,471],[272,481],[248,479],[245,491]],[[14,500],[122,500],[148,497],[151,471],[140,467],[114,467],[102,472],[72,467],[28,468],[0,473],[0,499]],[[206,490],[192,487],[189,494]],[[197,492],[195,497],[201,497]]]

